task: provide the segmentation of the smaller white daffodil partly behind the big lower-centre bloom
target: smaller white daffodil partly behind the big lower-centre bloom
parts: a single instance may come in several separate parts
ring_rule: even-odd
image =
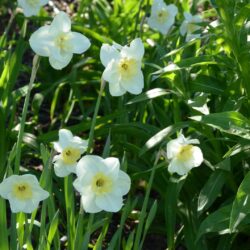
[[[87,147],[87,140],[73,136],[67,129],[60,129],[59,141],[54,142],[54,149],[60,153],[53,158],[55,174],[59,177],[65,177],[75,173],[77,161]]]

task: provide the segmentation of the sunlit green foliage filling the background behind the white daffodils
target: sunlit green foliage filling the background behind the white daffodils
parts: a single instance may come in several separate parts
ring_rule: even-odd
[[[0,180],[13,163],[12,149],[34,56],[29,37],[52,20],[54,11],[63,10],[71,16],[73,30],[91,40],[91,47],[84,55],[74,55],[62,71],[41,58],[26,121],[22,171],[41,175],[59,128],[88,137],[104,70],[101,45],[112,41],[125,45],[140,36],[145,45],[143,93],[111,97],[106,86],[92,152],[119,157],[132,178],[132,190],[121,213],[96,215],[91,244],[94,249],[139,249],[135,248],[138,220],[155,171],[144,211],[143,237],[138,236],[140,248],[247,250],[250,4],[248,0],[165,2],[176,4],[179,10],[167,36],[146,24],[149,0],[50,1],[39,17],[29,19],[15,11],[15,1],[1,0]],[[201,39],[185,42],[180,36],[184,11],[203,17]],[[201,167],[181,178],[169,175],[164,158],[166,143],[180,130],[200,140],[205,158]],[[62,240],[68,212],[62,205],[64,181],[51,174],[54,197],[48,202],[50,220],[43,232],[53,238],[52,249],[57,249],[69,246]],[[77,197],[74,209],[78,203]],[[87,222],[85,216],[84,225]],[[52,237],[50,232],[57,226]],[[37,228],[33,231],[39,235]],[[34,245],[38,244],[35,239]],[[40,249],[50,249],[45,241],[41,244]]]

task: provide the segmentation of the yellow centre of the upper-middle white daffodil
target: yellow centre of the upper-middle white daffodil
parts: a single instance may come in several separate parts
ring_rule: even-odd
[[[130,78],[137,73],[137,62],[135,59],[122,58],[119,62],[119,72],[122,77]]]

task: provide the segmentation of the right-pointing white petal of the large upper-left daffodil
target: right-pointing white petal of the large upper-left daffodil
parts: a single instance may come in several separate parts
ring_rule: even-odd
[[[76,54],[81,54],[85,52],[90,47],[89,39],[78,33],[78,32],[71,32],[69,42],[72,45],[72,52]]]

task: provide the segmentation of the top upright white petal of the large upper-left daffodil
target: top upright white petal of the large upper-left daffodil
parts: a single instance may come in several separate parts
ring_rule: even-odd
[[[71,30],[71,20],[69,16],[63,12],[60,11],[53,19],[50,30],[53,33],[59,33],[59,32],[69,32]]]

